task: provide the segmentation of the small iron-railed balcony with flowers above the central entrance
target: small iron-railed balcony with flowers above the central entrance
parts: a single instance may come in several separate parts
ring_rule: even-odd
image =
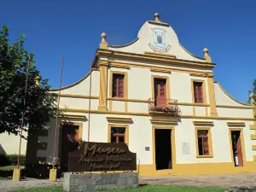
[[[150,114],[168,114],[172,117],[178,117],[181,115],[180,109],[177,107],[176,99],[166,99],[154,101],[153,98],[148,99],[148,112]]]

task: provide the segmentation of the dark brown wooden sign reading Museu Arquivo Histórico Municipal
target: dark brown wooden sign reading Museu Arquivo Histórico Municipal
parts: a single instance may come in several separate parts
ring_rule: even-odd
[[[107,172],[137,170],[136,154],[126,143],[81,143],[68,154],[68,172]]]

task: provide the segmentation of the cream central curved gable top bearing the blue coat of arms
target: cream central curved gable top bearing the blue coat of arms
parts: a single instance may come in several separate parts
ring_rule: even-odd
[[[108,45],[108,49],[135,54],[158,52],[175,55],[180,60],[206,62],[204,58],[191,54],[179,44],[177,34],[169,24],[153,20],[143,24],[137,38],[130,44]]]

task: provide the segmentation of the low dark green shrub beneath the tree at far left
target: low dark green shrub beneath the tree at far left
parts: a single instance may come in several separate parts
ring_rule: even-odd
[[[25,166],[26,156],[20,154],[20,166]],[[0,166],[16,166],[18,164],[18,154],[3,154],[0,156]]]

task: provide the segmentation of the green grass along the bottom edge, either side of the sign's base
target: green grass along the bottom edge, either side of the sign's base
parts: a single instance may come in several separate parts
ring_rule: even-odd
[[[18,189],[15,192],[64,192],[61,187]],[[170,185],[145,185],[137,189],[100,190],[101,192],[224,192],[220,188],[179,187]]]

